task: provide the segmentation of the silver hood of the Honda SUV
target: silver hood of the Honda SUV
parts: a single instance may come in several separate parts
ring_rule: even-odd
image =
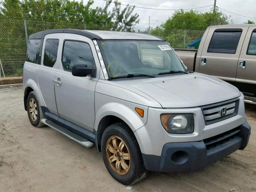
[[[203,106],[240,96],[235,86],[199,73],[125,80],[122,83],[144,92],[163,108]]]

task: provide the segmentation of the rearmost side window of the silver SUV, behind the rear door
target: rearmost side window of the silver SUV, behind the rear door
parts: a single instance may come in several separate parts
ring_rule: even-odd
[[[31,63],[40,64],[40,47],[41,39],[30,39],[28,40],[28,52],[26,61]]]

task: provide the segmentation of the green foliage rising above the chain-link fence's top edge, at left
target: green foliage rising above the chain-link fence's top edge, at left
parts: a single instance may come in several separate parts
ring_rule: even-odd
[[[132,14],[135,6],[121,9],[121,3],[116,0],[112,11],[108,11],[112,0],[103,8],[93,9],[93,3],[93,0],[85,5],[75,0],[2,0],[0,18],[83,23],[118,31],[130,31],[139,22],[138,14]]]

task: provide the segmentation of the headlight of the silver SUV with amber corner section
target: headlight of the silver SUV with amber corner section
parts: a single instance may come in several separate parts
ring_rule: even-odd
[[[192,114],[162,114],[161,123],[169,133],[194,132],[194,116]]]

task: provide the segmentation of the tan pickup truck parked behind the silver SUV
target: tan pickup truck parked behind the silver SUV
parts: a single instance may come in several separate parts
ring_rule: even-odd
[[[256,104],[256,25],[210,26],[196,49],[175,49],[188,70],[236,86],[245,102]]]

